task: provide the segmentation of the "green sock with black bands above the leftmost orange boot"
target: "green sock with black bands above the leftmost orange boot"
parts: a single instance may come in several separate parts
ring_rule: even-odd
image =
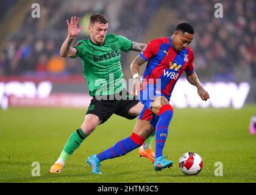
[[[68,141],[66,142],[58,161],[61,161],[62,164],[64,164],[69,155],[73,154],[73,152],[80,146],[80,144],[82,144],[86,137],[87,135],[85,135],[81,128],[74,131],[68,138]]]

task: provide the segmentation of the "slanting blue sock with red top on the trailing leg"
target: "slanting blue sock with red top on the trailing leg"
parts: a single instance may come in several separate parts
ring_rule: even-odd
[[[140,147],[144,143],[145,139],[139,135],[132,133],[130,137],[127,137],[121,141],[115,143],[114,146],[106,149],[105,151],[97,154],[100,161],[120,157],[126,155],[133,149]]]

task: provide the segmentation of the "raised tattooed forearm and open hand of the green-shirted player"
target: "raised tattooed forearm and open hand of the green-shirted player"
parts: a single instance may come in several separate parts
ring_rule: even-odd
[[[71,48],[70,45],[73,42],[74,38],[79,34],[82,30],[82,26],[77,29],[77,24],[79,23],[79,17],[76,16],[71,17],[71,21],[69,24],[68,19],[66,20],[66,24],[68,26],[68,37],[62,44],[62,48],[60,48],[60,56],[62,57],[74,57],[76,55],[77,49]]]

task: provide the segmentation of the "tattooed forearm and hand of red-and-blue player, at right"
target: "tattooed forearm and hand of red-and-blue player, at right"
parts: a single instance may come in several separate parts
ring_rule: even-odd
[[[201,83],[199,82],[199,79],[196,75],[196,73],[192,73],[190,75],[186,75],[188,82],[191,83],[191,85],[194,85],[197,87],[197,93],[199,94],[200,98],[204,101],[207,101],[207,99],[210,99],[210,96],[207,91],[202,87]]]

